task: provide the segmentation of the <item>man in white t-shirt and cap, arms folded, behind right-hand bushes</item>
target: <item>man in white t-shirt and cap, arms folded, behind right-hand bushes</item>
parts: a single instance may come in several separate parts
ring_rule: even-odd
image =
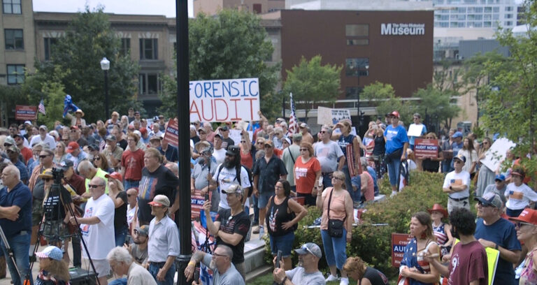
[[[464,207],[470,210],[470,173],[462,170],[466,157],[459,154],[453,158],[455,170],[445,175],[443,191],[449,194],[447,200],[447,212],[451,212],[456,207]]]

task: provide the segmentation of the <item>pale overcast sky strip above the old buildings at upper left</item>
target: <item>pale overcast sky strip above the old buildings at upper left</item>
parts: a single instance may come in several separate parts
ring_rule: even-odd
[[[70,12],[76,13],[90,9],[99,4],[104,6],[106,13],[134,15],[165,15],[176,17],[176,1],[174,0],[33,0],[36,12]],[[188,0],[189,15],[192,16],[192,0]]]

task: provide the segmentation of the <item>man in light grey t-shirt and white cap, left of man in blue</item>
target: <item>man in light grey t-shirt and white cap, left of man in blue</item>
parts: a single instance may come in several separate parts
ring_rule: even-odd
[[[338,143],[330,140],[332,129],[329,126],[322,126],[320,134],[322,142],[314,145],[315,156],[321,164],[322,185],[327,188],[332,186],[332,173],[345,165],[345,156]]]

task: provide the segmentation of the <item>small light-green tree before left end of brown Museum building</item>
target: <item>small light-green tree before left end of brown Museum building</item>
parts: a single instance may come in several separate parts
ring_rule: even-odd
[[[295,102],[301,101],[306,105],[306,119],[308,108],[318,101],[334,102],[340,91],[340,74],[343,66],[322,65],[322,58],[316,55],[310,61],[302,57],[298,66],[293,66],[287,72],[283,93],[293,94]]]

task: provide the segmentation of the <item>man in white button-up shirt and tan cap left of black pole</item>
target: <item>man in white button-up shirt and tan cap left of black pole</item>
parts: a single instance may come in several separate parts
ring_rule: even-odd
[[[159,285],[173,285],[176,258],[180,254],[179,231],[176,223],[168,217],[170,200],[157,195],[148,203],[155,216],[149,224],[148,263],[149,272]]]

